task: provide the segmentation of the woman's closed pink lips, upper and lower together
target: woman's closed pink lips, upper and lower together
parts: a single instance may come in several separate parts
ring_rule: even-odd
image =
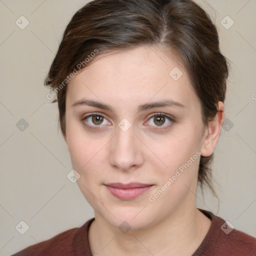
[[[142,183],[108,183],[105,184],[109,192],[115,197],[123,200],[133,199],[148,189],[150,189],[153,185],[151,184],[142,184]]]

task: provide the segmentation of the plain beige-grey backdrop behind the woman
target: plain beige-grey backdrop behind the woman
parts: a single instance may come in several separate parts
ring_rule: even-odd
[[[0,0],[0,255],[93,217],[66,177],[72,166],[57,128],[57,105],[43,86],[67,22],[86,2]],[[198,190],[197,207],[256,236],[256,0],[197,2],[217,25],[231,66],[212,164],[219,200]],[[29,227],[24,234],[20,221]]]

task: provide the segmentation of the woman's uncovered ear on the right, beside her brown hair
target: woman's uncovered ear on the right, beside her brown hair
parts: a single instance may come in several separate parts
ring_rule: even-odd
[[[208,128],[205,129],[203,136],[203,143],[201,147],[201,155],[209,156],[213,153],[213,150],[217,144],[221,127],[224,121],[224,104],[222,101],[218,101],[218,112],[212,121],[208,122]]]

